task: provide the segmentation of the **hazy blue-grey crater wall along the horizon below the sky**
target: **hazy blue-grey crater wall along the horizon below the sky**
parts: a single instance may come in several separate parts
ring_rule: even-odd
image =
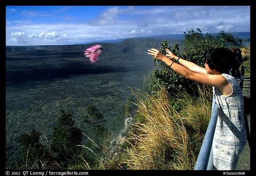
[[[167,39],[170,45],[179,43],[183,47],[183,40]],[[45,52],[45,51],[72,51],[81,52],[94,45],[100,44],[103,47],[104,54],[128,54],[148,56],[147,49],[160,48],[163,39],[161,38],[128,38],[120,42],[95,42],[90,44],[76,44],[76,45],[44,45],[44,46],[6,46],[6,51],[20,51],[30,50],[31,52]]]

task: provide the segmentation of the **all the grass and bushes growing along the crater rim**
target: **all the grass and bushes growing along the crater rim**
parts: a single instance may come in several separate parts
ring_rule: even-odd
[[[238,45],[247,54],[243,57],[250,57],[250,49],[241,46],[242,40],[224,31],[216,36],[203,36],[197,28],[197,32],[191,30],[184,36],[182,51],[177,43],[171,49],[166,40],[160,51],[164,53],[168,48],[200,66],[204,65],[205,51],[211,47]],[[19,168],[193,169],[211,116],[212,88],[186,80],[164,63],[153,61],[157,69],[144,77],[143,91],[131,88],[133,97],[127,99],[127,105],[116,115],[112,126],[111,131],[115,131],[128,113],[135,117],[132,130],[120,145],[123,154],[118,159],[100,161],[108,152],[108,142],[113,135],[104,124],[104,115],[90,103],[83,118],[84,129],[75,126],[71,112],[60,110],[59,123],[54,126],[49,146],[40,142],[42,134],[36,129],[22,134],[18,139],[22,147]],[[250,65],[248,59],[244,65]],[[87,135],[82,130],[86,130]]]

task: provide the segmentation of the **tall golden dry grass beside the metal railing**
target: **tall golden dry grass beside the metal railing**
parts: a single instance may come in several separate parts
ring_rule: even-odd
[[[164,89],[156,98],[132,90],[138,111],[125,149],[128,169],[194,168],[212,107],[211,89],[198,88],[199,98],[179,91],[170,97]]]

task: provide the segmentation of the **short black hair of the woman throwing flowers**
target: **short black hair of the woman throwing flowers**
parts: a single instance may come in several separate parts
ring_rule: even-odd
[[[228,48],[211,48],[204,58],[210,69],[216,69],[220,73],[229,73],[234,61],[234,55]]]

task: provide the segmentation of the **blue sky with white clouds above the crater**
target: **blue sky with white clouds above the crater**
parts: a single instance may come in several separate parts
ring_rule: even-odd
[[[6,46],[250,32],[250,6],[6,6]]]

